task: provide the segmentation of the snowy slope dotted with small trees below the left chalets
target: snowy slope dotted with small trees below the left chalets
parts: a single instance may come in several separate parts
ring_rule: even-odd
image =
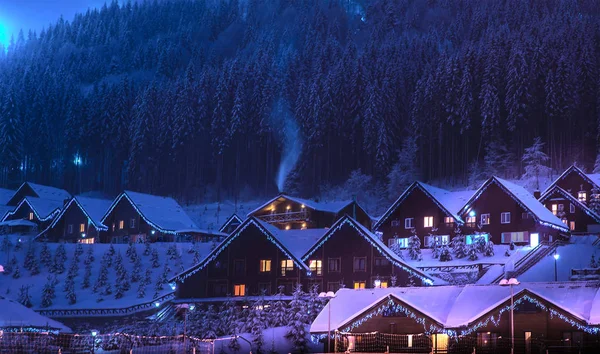
[[[0,242],[2,241],[3,238],[4,237],[0,237]],[[114,260],[116,259],[115,258],[116,254],[115,254],[115,256],[113,256],[113,267],[111,269],[109,269],[109,272],[108,272],[108,281],[112,286],[113,294],[102,296],[103,301],[101,301],[101,302],[97,302],[99,295],[97,293],[93,293],[92,289],[93,289],[96,279],[98,278],[98,275],[100,273],[100,265],[101,265],[101,261],[102,261],[102,256],[104,255],[104,253],[106,251],[109,250],[110,244],[82,245],[83,254],[79,257],[79,262],[78,262],[79,270],[78,270],[77,276],[75,277],[75,294],[77,296],[77,302],[73,305],[69,305],[68,301],[65,297],[66,294],[63,291],[63,287],[64,287],[64,280],[67,277],[67,273],[68,273],[69,267],[71,266],[72,258],[74,256],[74,252],[75,252],[77,245],[76,244],[65,244],[66,254],[67,254],[67,260],[65,262],[65,271],[62,274],[56,274],[57,279],[58,279],[58,284],[56,285],[56,288],[55,288],[56,297],[53,300],[52,306],[48,307],[48,309],[123,308],[123,307],[128,307],[128,306],[151,301],[153,299],[153,295],[155,294],[155,284],[157,282],[157,279],[162,275],[162,273],[164,271],[165,263],[167,263],[169,265],[169,267],[171,268],[171,271],[169,272],[169,276],[174,276],[177,273],[179,273],[182,269],[187,269],[188,267],[190,267],[192,265],[194,257],[192,254],[188,253],[188,250],[190,249],[191,244],[189,244],[189,243],[174,244],[174,245],[176,245],[177,250],[181,254],[181,263],[179,263],[178,260],[169,259],[170,256],[168,256],[166,254],[168,248],[172,245],[173,245],[172,243],[154,243],[151,245],[151,247],[153,249],[156,249],[158,252],[158,259],[159,259],[160,265],[157,268],[152,267],[152,261],[151,261],[152,257],[151,256],[143,255],[145,245],[143,245],[143,244],[135,245],[136,252],[137,252],[138,256],[141,257],[141,272],[140,272],[141,274],[140,275],[143,277],[146,273],[146,269],[150,269],[152,272],[151,283],[146,286],[145,296],[143,298],[137,297],[139,283],[132,283],[131,289],[129,289],[121,299],[115,299],[115,297],[114,297],[115,279],[116,279],[116,272],[114,270]],[[123,257],[123,265],[124,265],[125,269],[127,270],[127,273],[130,277],[131,273],[133,271],[133,268],[134,268],[134,264],[130,261],[129,257],[127,257],[127,255],[126,255],[128,245],[113,245],[113,246],[117,253],[119,253],[119,252],[121,253],[121,256]],[[212,246],[213,245],[211,243],[198,243],[196,245],[196,247],[199,250],[200,258],[206,257],[208,255],[208,253],[210,252],[210,249]],[[20,274],[21,274],[20,278],[18,278],[18,279],[14,279],[12,274],[0,275],[0,294],[2,294],[3,296],[5,296],[7,298],[18,301],[19,300],[18,299],[19,289],[21,288],[21,286],[31,286],[31,288],[29,289],[29,294],[31,296],[33,308],[39,309],[40,304],[41,304],[42,289],[47,282],[48,276],[54,275],[54,274],[49,273],[48,267],[42,266],[41,264],[40,264],[40,274],[37,274],[37,275],[32,276],[32,275],[30,275],[30,272],[28,270],[24,269],[23,265],[24,265],[25,256],[27,254],[28,247],[29,247],[28,244],[23,244],[21,249],[18,251],[15,251],[14,247],[13,247],[13,249],[11,249],[10,251],[0,252],[0,264],[6,264],[7,259],[12,259],[13,256],[16,256],[19,267],[20,267]],[[49,248],[52,256],[54,256],[54,254],[56,253],[57,247],[58,247],[58,244],[48,243],[48,248]],[[95,261],[92,263],[92,272],[91,272],[92,275],[90,277],[91,286],[87,289],[82,289],[82,280],[83,280],[84,272],[85,272],[84,260],[86,259],[88,249],[90,249],[90,248],[92,248],[94,258],[95,258]],[[36,255],[38,257],[38,260],[39,260],[40,252],[42,250],[42,244],[36,242],[35,250],[36,250]],[[170,292],[172,292],[171,288],[169,287],[168,284],[165,284],[164,290],[159,291],[158,293],[159,293],[159,296],[162,296],[162,295],[168,294]]]

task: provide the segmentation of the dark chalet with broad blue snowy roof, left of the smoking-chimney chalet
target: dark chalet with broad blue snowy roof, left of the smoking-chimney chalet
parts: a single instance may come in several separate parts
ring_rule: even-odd
[[[174,241],[175,235],[196,224],[173,198],[125,191],[100,222],[108,227],[103,243]]]

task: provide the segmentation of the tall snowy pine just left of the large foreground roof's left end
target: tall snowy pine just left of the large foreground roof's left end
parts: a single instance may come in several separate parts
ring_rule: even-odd
[[[286,338],[292,342],[293,350],[298,353],[306,353],[308,351],[306,325],[309,321],[304,297],[302,285],[297,284],[292,294],[292,301],[290,301],[290,317],[288,319],[289,325]]]

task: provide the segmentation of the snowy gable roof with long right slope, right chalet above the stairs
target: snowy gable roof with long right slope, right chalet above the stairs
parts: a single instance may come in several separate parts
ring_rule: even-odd
[[[460,210],[460,213],[463,214],[468,211],[471,204],[481,196],[481,194],[492,184],[496,184],[499,186],[504,192],[506,192],[515,202],[517,202],[523,209],[528,211],[534,219],[547,226],[553,227],[555,229],[559,229],[565,232],[568,232],[569,229],[565,226],[565,224],[560,221],[556,215],[552,214],[550,210],[548,210],[544,204],[540,203],[533,194],[529,193],[525,188],[504,180],[502,178],[498,178],[496,176],[489,178],[487,181],[483,183],[481,187],[473,194],[473,196],[469,199],[469,201],[465,204],[465,206]]]

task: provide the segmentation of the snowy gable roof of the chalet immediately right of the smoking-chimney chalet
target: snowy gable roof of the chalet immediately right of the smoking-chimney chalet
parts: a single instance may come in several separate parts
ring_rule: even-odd
[[[442,188],[434,187],[420,181],[413,182],[408,188],[402,192],[400,197],[386,210],[385,213],[373,225],[373,230],[377,230],[393,213],[398,209],[400,204],[412,193],[413,190],[420,189],[431,199],[444,213],[452,216],[458,224],[463,224],[458,212],[466,204],[467,200],[473,195],[474,191],[457,191],[451,192]]]

